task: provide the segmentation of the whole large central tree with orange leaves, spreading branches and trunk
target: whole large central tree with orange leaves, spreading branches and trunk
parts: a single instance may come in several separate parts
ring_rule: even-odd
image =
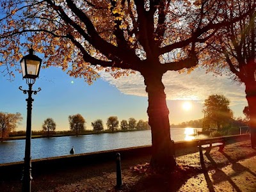
[[[169,110],[162,76],[168,70],[188,72],[199,52],[223,26],[248,12],[225,13],[240,1],[195,0],[12,0],[1,2],[0,60],[13,74],[24,48],[44,54],[44,67],[61,66],[89,84],[98,71],[113,77],[134,71],[144,77],[148,124],[152,129],[155,167],[172,167]],[[17,68],[19,69],[19,68]]]

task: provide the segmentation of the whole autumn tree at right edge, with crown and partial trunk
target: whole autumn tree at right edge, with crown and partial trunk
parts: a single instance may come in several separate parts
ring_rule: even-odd
[[[207,52],[202,52],[205,59],[202,63],[216,74],[226,74],[244,83],[250,109],[251,143],[256,147],[256,1],[231,2],[232,8],[223,12],[223,16],[227,20],[243,17],[219,31],[213,43],[208,42]]]

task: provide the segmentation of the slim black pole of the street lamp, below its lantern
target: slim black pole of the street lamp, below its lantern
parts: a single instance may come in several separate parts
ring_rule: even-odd
[[[34,81],[35,82],[35,81]],[[26,127],[26,145],[25,145],[25,157],[24,157],[24,170],[22,176],[22,192],[31,191],[31,112],[32,112],[32,94],[36,95],[37,92],[40,92],[41,88],[38,88],[38,91],[33,91],[33,83],[29,83],[29,90],[22,90],[22,86],[19,87],[24,94],[28,93],[28,102],[27,105],[27,127]]]

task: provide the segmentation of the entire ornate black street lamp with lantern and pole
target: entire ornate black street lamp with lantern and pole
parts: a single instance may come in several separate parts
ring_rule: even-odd
[[[29,49],[29,54],[24,56],[20,60],[20,65],[22,69],[22,77],[26,79],[26,83],[29,86],[29,90],[22,90],[22,86],[19,87],[24,94],[28,93],[28,108],[27,108],[27,127],[26,127],[26,146],[25,146],[25,157],[24,157],[24,170],[22,176],[22,192],[31,191],[31,112],[32,112],[32,94],[36,95],[40,92],[41,88],[37,91],[32,90],[32,86],[39,75],[42,60],[35,56],[34,50]]]

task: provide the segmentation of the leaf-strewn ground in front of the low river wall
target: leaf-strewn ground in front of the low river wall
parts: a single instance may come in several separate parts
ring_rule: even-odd
[[[256,191],[256,150],[250,140],[233,141],[223,152],[212,148],[200,163],[198,148],[176,151],[173,172],[150,170],[150,156],[122,159],[122,181],[116,189],[115,162],[79,166],[35,175],[32,191]],[[0,191],[20,191],[19,180],[0,182]]]

